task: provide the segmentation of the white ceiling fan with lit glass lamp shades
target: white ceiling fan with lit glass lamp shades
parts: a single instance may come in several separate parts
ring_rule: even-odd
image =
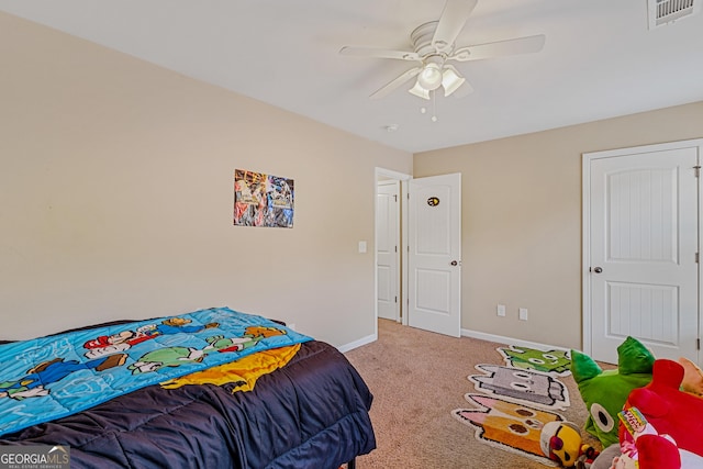
[[[545,35],[538,34],[457,47],[455,41],[477,3],[478,0],[447,0],[439,20],[424,23],[410,34],[413,51],[345,46],[342,47],[339,54],[419,63],[415,67],[375,91],[369,97],[371,99],[388,96],[414,77],[417,77],[415,85],[408,91],[420,98],[429,99],[431,91],[435,91],[439,87],[444,89],[445,97],[455,92],[455,97],[466,96],[473,91],[473,88],[449,62],[479,60],[535,53],[542,51],[545,44]],[[460,88],[461,91],[457,92]]]

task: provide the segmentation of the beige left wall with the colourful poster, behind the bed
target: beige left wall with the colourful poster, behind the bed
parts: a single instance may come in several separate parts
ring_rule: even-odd
[[[375,167],[412,155],[4,13],[0,62],[0,338],[222,305],[375,333]],[[235,168],[294,179],[292,230],[232,225]]]

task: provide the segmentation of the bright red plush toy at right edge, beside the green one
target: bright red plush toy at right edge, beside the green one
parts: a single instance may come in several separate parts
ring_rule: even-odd
[[[679,390],[683,371],[676,361],[658,359],[651,382],[633,390],[627,398],[625,409],[636,407],[659,434],[639,436],[635,443],[626,425],[621,424],[621,446],[637,448],[639,469],[687,467],[682,466],[677,447],[692,453],[690,456],[703,457],[703,399]],[[663,436],[672,438],[676,445]]]

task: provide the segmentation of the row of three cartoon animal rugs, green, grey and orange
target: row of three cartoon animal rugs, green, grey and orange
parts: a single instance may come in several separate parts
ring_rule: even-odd
[[[477,365],[480,373],[468,380],[480,393],[465,394],[471,406],[451,415],[475,428],[481,443],[557,467],[542,451],[539,435],[547,423],[565,421],[555,411],[570,405],[568,389],[558,380],[570,373],[569,353],[515,346],[498,351],[505,366]]]

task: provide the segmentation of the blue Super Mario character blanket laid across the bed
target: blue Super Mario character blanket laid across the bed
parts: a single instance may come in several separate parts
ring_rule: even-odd
[[[265,317],[217,308],[0,345],[0,435],[311,339]]]

